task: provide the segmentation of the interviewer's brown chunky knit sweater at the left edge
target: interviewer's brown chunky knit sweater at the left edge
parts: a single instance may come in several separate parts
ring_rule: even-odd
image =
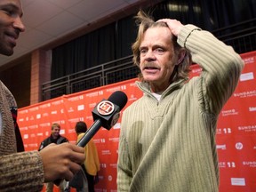
[[[17,107],[12,93],[0,81],[0,191],[41,191],[44,168],[37,151],[17,153],[11,108]]]

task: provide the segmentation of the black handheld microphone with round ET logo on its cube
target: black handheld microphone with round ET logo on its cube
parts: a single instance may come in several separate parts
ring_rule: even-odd
[[[77,146],[83,147],[92,139],[100,127],[110,130],[116,124],[120,116],[120,111],[127,103],[127,96],[124,92],[113,92],[108,100],[101,100],[92,110],[92,117],[94,123],[84,133],[84,136],[77,142]]]

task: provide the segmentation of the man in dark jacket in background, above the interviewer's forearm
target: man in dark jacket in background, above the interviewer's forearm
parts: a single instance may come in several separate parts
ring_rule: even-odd
[[[68,142],[68,139],[60,135],[60,124],[54,123],[52,124],[51,128],[51,135],[50,137],[46,138],[43,140],[40,144],[39,151],[45,148],[46,146],[50,145],[51,143],[55,143],[59,145],[60,143]],[[53,191],[53,182],[48,182],[46,183],[46,192],[52,192]],[[65,187],[65,181],[63,180],[60,185],[60,191],[63,192]]]

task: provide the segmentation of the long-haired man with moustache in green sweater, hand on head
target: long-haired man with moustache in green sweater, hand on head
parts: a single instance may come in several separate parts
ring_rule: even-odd
[[[123,114],[117,190],[219,190],[215,132],[236,89],[243,60],[208,31],[139,12],[133,61],[144,95]],[[189,65],[203,68],[188,80]]]

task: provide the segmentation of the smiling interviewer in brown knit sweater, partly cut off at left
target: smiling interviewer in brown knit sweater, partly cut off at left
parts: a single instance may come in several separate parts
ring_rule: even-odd
[[[0,54],[13,54],[20,32],[25,30],[22,14],[20,0],[0,1]],[[72,180],[81,170],[84,148],[63,143],[51,144],[41,151],[22,151],[20,130],[15,129],[16,115],[16,101],[0,81],[0,191],[39,192],[44,182]]]

